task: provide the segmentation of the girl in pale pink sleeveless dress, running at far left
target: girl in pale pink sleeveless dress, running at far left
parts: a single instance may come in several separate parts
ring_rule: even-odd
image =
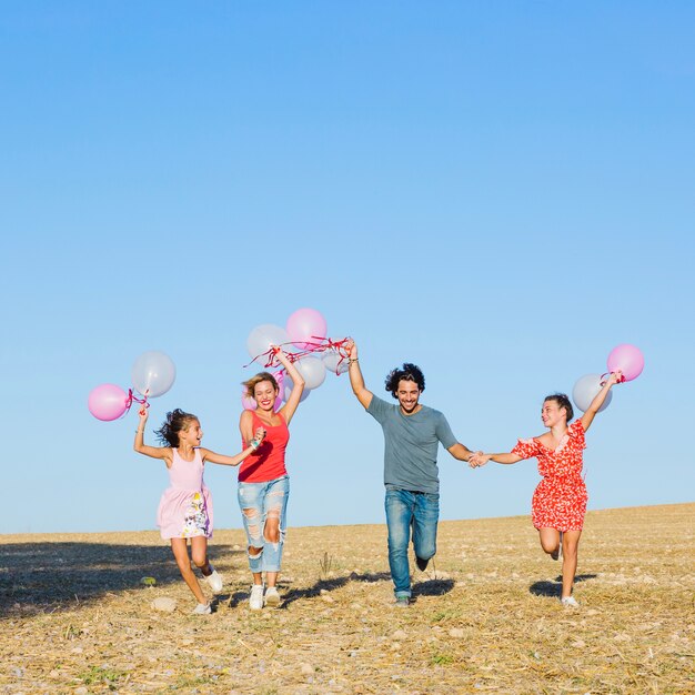
[[[190,538],[193,563],[213,593],[219,594],[222,591],[222,577],[208,560],[208,538],[212,537],[212,497],[203,482],[203,469],[207,461],[222,465],[239,465],[260,446],[265,431],[262,427],[256,429],[249,446],[240,454],[223,456],[200,446],[203,431],[195,415],[179,409],[167,413],[167,421],[157,431],[157,435],[168,446],[148,446],[144,443],[147,421],[148,409],[143,407],[140,411],[133,449],[145,456],[163,459],[169,471],[170,484],[160,500],[157,524],[162,538],[171,541],[171,550],[181,576],[198,600],[193,613],[208,614],[212,608],[191,568],[188,551]]]

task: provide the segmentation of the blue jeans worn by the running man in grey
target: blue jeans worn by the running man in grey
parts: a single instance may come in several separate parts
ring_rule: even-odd
[[[389,526],[389,566],[396,597],[411,596],[407,544],[413,528],[415,555],[430,560],[436,553],[436,524],[440,495],[410,492],[386,486],[386,525]]]

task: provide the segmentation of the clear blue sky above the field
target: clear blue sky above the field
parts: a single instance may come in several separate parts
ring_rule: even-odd
[[[694,498],[691,2],[6,2],[0,532],[154,527],[148,350],[235,453],[245,341],[318,309],[369,387],[403,361],[472,449],[541,434],[633,343],[585,452],[590,508]],[[330,375],[291,427],[289,523],[383,520],[381,429]],[[152,436],[149,437],[153,443]],[[442,518],[526,514],[535,461],[440,454]],[[215,525],[235,471],[209,466]]]

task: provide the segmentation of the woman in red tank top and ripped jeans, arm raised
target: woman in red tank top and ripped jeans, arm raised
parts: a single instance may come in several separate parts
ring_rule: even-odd
[[[246,532],[249,567],[253,574],[249,597],[249,607],[252,611],[260,611],[264,605],[280,604],[276,583],[290,495],[290,477],[284,461],[290,440],[288,425],[304,390],[304,380],[288,355],[280,348],[275,348],[275,356],[292,379],[290,396],[275,412],[275,399],[280,393],[278,382],[269,372],[261,372],[244,382],[246,394],[255,401],[256,409],[245,410],[239,422],[244,442],[251,442],[259,427],[265,430],[263,443],[239,471],[239,506]]]

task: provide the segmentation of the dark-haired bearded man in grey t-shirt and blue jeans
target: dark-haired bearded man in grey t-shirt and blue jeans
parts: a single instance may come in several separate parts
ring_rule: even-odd
[[[350,341],[346,349],[352,391],[384,432],[389,566],[396,605],[406,607],[412,595],[407,562],[411,527],[415,563],[421,571],[436,552],[440,516],[436,453],[440,442],[460,461],[469,461],[473,452],[456,441],[442,413],[420,403],[425,380],[417,366],[406,363],[386,377],[386,391],[397,400],[396,405],[382,401],[366,389],[357,346]]]

